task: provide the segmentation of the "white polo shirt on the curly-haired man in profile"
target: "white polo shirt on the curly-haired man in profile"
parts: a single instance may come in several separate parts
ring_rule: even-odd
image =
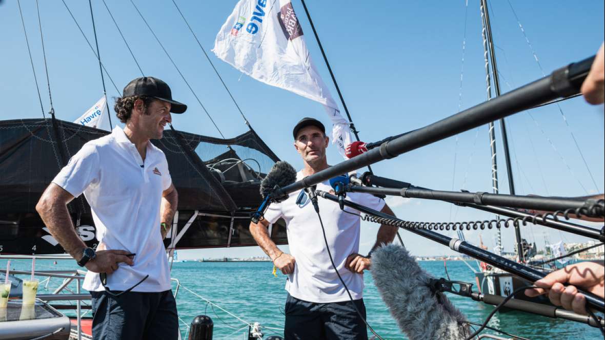
[[[172,183],[162,150],[147,144],[145,162],[120,127],[110,135],[90,141],[71,157],[53,179],[74,197],[84,193],[90,204],[97,240],[106,249],[136,254],[134,265],[120,263],[107,275],[111,290],[163,292],[171,289],[170,271],[160,233],[162,191]],[[103,290],[99,274],[88,271],[83,284],[90,291]]]

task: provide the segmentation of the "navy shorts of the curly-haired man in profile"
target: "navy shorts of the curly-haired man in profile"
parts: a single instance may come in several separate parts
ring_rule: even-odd
[[[159,293],[126,292],[93,297],[93,339],[178,339],[177,303],[172,290]]]

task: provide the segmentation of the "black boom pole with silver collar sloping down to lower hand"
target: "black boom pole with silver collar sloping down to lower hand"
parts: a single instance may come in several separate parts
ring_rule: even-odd
[[[316,193],[318,194],[318,196],[324,197],[325,199],[332,200],[333,202],[338,202],[338,196],[334,196],[333,194],[329,194],[321,190],[317,190]],[[381,213],[380,211],[370,209],[361,204],[356,204],[355,202],[351,202],[350,200],[344,200],[344,205],[355,210],[361,211],[362,213],[397,220],[397,218],[394,216]],[[451,237],[435,233],[434,231],[426,229],[404,229],[411,231],[412,233],[417,234],[419,236],[433,240],[437,243],[441,243],[442,245],[446,245],[450,247],[450,249],[452,249],[453,251],[469,255],[473,258],[476,258],[477,260],[488,263],[489,265],[492,265],[496,268],[500,268],[503,271],[517,275],[518,277],[524,278],[525,280],[531,282],[540,280],[541,278],[546,276],[545,272],[537,271],[536,269],[509,260],[506,257],[502,257],[492,252],[483,250],[479,247],[476,247],[459,239],[453,239]],[[590,306],[596,308],[597,310],[600,310],[601,312],[605,311],[605,301],[603,301],[603,298],[597,297],[597,295],[593,293],[584,292],[579,289],[578,292],[583,293],[584,297],[586,297],[586,302]]]

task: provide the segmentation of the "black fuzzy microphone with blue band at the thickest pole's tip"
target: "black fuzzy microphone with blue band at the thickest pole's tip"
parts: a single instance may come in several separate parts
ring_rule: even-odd
[[[258,223],[264,217],[264,212],[272,202],[281,202],[288,198],[281,188],[296,182],[296,170],[288,162],[276,162],[260,185],[263,202],[252,214],[252,222]]]

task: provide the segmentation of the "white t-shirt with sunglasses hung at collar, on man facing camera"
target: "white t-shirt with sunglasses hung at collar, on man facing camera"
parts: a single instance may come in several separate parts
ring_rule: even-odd
[[[297,181],[303,177],[302,172],[296,174]],[[329,181],[325,181],[318,184],[317,189],[330,191],[332,187]],[[296,260],[294,272],[286,281],[286,290],[299,300],[313,303],[348,301],[347,291],[338,279],[325,249],[321,225],[310,199],[307,197],[304,204],[296,204],[300,193],[295,191],[283,202],[271,204],[264,214],[269,223],[275,223],[280,217],[286,220],[290,254]],[[381,210],[385,204],[384,200],[365,193],[347,193],[346,199],[374,210]],[[344,213],[337,202],[318,197],[318,204],[336,268],[353,300],[359,300],[364,289],[363,276],[353,274],[344,265],[348,255],[359,252],[360,219]],[[345,210],[359,214],[352,208],[345,207]]]

